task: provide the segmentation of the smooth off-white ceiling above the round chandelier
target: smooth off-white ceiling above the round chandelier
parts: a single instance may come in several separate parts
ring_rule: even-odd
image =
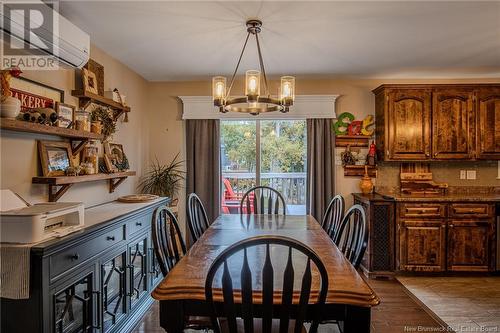
[[[152,81],[230,76],[263,21],[270,75],[500,78],[500,2],[66,1],[64,16]],[[241,73],[257,68],[255,42]]]

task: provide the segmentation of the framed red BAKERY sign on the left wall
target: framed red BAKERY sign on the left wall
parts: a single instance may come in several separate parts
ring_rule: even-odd
[[[21,101],[21,112],[33,108],[54,108],[56,102],[64,103],[64,90],[48,86],[24,77],[10,81],[12,97]]]

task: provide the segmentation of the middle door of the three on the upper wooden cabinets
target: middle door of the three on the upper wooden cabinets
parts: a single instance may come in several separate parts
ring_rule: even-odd
[[[432,94],[432,157],[474,158],[474,93],[471,89],[436,89]]]

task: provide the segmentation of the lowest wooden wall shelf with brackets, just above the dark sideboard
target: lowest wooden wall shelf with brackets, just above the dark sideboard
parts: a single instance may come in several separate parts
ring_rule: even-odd
[[[59,177],[33,177],[33,184],[49,185],[49,202],[55,202],[76,183],[86,183],[99,180],[109,180],[109,193],[123,183],[127,177],[135,176],[135,171],[124,171],[115,173],[97,173],[84,176],[59,176]]]

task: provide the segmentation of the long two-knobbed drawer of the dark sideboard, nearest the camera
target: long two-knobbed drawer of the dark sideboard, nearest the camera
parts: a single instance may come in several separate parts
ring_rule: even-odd
[[[125,240],[125,224],[52,255],[50,257],[51,279],[76,268],[87,259],[123,240]]]

